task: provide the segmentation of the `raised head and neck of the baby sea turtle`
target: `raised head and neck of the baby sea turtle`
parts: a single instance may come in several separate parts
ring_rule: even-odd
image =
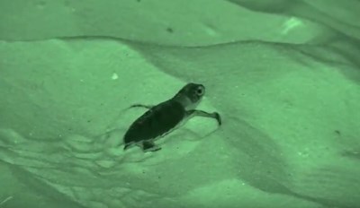
[[[202,84],[190,82],[176,93],[173,100],[180,102],[185,109],[195,108],[205,94],[205,87]]]

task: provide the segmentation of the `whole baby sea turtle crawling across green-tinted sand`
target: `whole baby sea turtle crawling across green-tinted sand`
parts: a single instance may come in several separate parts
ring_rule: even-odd
[[[198,83],[188,83],[175,96],[169,100],[161,102],[156,106],[135,104],[130,108],[148,108],[142,116],[136,119],[123,140],[124,150],[133,144],[138,145],[143,152],[155,152],[161,149],[154,141],[157,138],[168,134],[178,126],[185,118],[193,116],[211,117],[221,125],[220,115],[217,112],[208,113],[195,109],[205,93],[205,87]]]

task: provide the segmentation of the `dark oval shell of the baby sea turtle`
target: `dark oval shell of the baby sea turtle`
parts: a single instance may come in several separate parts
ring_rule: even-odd
[[[166,100],[150,108],[141,117],[136,119],[123,140],[126,149],[131,143],[152,141],[158,136],[166,134],[185,117],[184,106],[176,100]]]

